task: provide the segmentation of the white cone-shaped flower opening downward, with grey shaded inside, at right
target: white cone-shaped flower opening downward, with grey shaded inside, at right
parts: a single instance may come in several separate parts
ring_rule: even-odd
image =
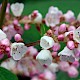
[[[74,57],[74,51],[68,49],[65,47],[61,52],[58,54],[60,56],[60,60],[62,61],[69,61],[69,62],[74,62],[75,57]]]

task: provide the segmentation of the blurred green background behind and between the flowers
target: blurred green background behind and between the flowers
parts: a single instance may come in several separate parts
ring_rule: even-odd
[[[0,0],[0,2],[2,1],[3,0]],[[43,18],[45,17],[45,14],[48,12],[48,8],[50,6],[58,7],[60,10],[62,10],[63,13],[66,13],[67,10],[72,10],[75,13],[76,17],[80,12],[80,0],[9,0],[9,2],[23,2],[25,4],[23,15],[28,15],[36,9],[39,10],[40,13],[42,13]],[[25,31],[22,36],[26,43],[37,41],[41,37],[38,31],[36,30],[35,25],[31,26],[31,29]],[[69,78],[68,75],[64,72],[58,72],[57,80],[80,80],[80,74],[77,78],[73,79]]]

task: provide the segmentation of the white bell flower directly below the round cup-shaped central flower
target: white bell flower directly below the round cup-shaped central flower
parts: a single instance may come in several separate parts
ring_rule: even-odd
[[[49,50],[41,50],[36,56],[36,59],[41,65],[49,66],[52,63],[52,56]]]

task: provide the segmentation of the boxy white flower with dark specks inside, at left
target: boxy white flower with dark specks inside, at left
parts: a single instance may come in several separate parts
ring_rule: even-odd
[[[11,53],[10,55],[14,60],[20,60],[26,54],[27,47],[24,43],[13,43],[11,45]]]

